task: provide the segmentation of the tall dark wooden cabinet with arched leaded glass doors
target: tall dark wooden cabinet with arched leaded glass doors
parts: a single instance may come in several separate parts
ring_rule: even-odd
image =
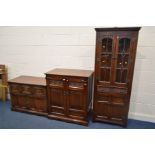
[[[140,27],[95,30],[93,121],[126,126]]]

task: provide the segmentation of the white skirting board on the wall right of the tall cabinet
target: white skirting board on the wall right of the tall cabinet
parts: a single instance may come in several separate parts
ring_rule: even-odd
[[[142,113],[129,113],[129,118],[140,120],[140,121],[147,121],[147,122],[153,122],[155,123],[155,115],[146,115]]]

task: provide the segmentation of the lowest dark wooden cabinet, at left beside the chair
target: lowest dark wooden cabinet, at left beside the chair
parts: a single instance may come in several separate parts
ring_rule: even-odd
[[[19,76],[9,81],[12,110],[47,116],[46,80]]]

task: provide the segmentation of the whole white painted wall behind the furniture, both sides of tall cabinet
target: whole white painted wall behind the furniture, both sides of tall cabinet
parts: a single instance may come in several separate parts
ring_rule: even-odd
[[[94,69],[93,27],[0,27],[0,63],[9,79],[53,68]],[[155,27],[140,30],[130,118],[155,122]]]

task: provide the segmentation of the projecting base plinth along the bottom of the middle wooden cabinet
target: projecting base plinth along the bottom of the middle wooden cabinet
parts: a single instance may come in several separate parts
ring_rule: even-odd
[[[80,120],[80,119],[70,118],[66,116],[52,115],[52,114],[48,115],[48,118],[88,126],[88,121],[86,120]]]

